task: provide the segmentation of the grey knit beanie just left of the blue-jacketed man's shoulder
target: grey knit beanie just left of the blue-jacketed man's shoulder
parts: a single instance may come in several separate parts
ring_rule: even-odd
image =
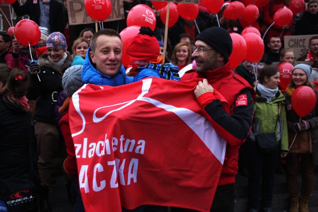
[[[68,96],[72,96],[85,83],[81,81],[82,65],[71,66],[62,77],[62,85]]]

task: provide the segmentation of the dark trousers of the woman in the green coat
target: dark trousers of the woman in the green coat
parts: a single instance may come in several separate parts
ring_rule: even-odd
[[[259,195],[261,190],[262,207],[270,208],[273,188],[274,174],[280,155],[280,144],[272,153],[262,153],[258,150],[256,141],[246,141],[248,149],[249,177],[248,177],[248,199],[251,209],[259,208]],[[260,189],[260,182],[262,186]]]

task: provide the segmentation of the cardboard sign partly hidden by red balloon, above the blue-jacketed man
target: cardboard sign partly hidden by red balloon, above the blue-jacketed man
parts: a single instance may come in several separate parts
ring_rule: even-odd
[[[112,11],[106,21],[114,21],[124,19],[124,3],[123,0],[110,0],[112,3]],[[68,13],[69,13],[69,24],[87,24],[94,23],[96,20],[89,17],[85,11],[84,0],[66,0]]]

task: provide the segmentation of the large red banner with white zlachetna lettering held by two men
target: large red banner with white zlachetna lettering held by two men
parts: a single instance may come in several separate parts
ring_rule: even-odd
[[[197,82],[86,84],[73,95],[70,127],[85,211],[210,211],[226,142],[202,116]]]

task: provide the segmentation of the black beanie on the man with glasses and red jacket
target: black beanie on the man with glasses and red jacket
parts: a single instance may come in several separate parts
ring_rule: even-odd
[[[212,48],[216,49],[228,62],[233,50],[232,38],[227,30],[222,27],[211,27],[202,31],[195,40],[203,41]]]

